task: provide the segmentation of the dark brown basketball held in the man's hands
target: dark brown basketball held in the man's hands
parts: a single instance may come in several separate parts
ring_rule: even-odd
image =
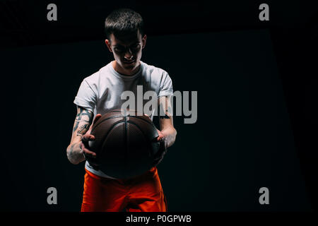
[[[90,134],[95,141],[89,141],[89,149],[96,153],[99,169],[116,179],[151,169],[160,149],[158,131],[151,119],[133,110],[107,112],[93,125]]]

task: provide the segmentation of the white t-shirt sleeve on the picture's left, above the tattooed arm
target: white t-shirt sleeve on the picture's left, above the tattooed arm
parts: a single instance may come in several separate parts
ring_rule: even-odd
[[[96,100],[97,97],[93,88],[91,88],[86,79],[84,79],[73,103],[94,112]]]

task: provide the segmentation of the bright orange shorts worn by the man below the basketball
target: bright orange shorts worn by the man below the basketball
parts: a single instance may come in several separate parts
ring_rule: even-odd
[[[81,212],[166,212],[157,167],[131,179],[107,179],[86,169]]]

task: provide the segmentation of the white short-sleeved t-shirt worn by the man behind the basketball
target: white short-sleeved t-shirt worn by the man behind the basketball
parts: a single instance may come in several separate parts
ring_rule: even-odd
[[[121,100],[121,95],[125,90],[130,90],[137,97],[137,85],[142,85],[143,94],[148,90],[154,91],[158,97],[173,95],[172,81],[168,73],[155,66],[148,65],[140,61],[141,67],[132,76],[124,76],[112,67],[112,62],[103,66],[99,71],[84,78],[74,104],[90,110],[96,114],[105,114],[111,109],[119,109],[126,100]],[[143,105],[148,100],[143,100]],[[150,115],[151,120],[153,115]],[[88,171],[100,177],[107,177],[107,174],[100,170],[95,170],[86,161]]]

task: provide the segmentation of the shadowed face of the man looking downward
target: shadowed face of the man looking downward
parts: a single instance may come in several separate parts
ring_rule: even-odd
[[[115,37],[111,34],[110,40],[105,40],[105,43],[124,71],[134,71],[140,64],[141,52],[146,45],[146,35],[141,37],[139,31],[123,37]]]

